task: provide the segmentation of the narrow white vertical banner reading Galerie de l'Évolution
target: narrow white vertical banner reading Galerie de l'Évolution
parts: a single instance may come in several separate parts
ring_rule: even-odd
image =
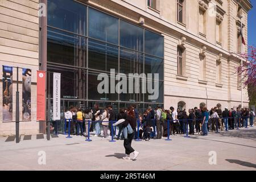
[[[60,73],[53,73],[53,121],[60,120]]]

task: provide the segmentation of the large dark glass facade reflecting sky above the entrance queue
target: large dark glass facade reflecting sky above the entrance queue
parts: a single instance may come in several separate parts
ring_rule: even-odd
[[[48,0],[47,37],[47,72],[50,80],[53,72],[61,73],[64,107],[76,102],[79,106],[92,107],[97,102],[102,106],[112,104],[118,109],[135,103],[143,110],[148,105],[163,104],[162,35],[76,1]],[[141,92],[141,79],[138,79],[139,93],[110,93],[119,82],[115,80],[115,85],[110,84],[110,69],[115,70],[115,76],[124,73],[127,77],[129,73],[146,73],[146,76],[159,73],[158,99],[148,100],[150,94]],[[107,93],[97,91],[102,81],[97,79],[100,73],[109,77]],[[154,79],[152,77],[152,88]],[[49,85],[52,90],[52,81]]]

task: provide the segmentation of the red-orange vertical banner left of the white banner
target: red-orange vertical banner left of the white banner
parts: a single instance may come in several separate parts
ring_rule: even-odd
[[[36,121],[46,121],[46,72],[37,71]]]

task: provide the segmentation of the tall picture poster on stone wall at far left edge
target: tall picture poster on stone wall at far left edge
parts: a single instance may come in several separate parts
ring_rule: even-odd
[[[3,66],[3,121],[13,121],[13,67]]]

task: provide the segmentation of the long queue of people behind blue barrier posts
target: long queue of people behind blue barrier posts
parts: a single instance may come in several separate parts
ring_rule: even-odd
[[[136,109],[136,105],[131,105],[129,108],[120,108],[119,113],[115,113],[112,105],[107,106],[104,110],[100,110],[98,105],[94,105],[93,109],[77,109],[71,107],[70,110],[65,111],[65,119],[71,122],[71,134],[88,135],[88,123],[90,122],[90,132],[95,131],[95,137],[101,136],[101,125],[103,129],[104,138],[112,136],[112,124],[114,121],[120,119],[127,119],[127,113],[129,109],[134,111],[135,121],[139,121],[139,130],[137,123],[131,127],[134,131],[133,139],[144,139],[149,141],[150,139],[162,139],[167,137],[168,126],[170,135],[186,134],[187,130],[189,135],[200,134],[208,135],[209,131],[228,131],[237,129],[239,127],[247,127],[248,124],[253,126],[255,113],[253,110],[235,109],[228,110],[227,107],[222,111],[220,106],[211,108],[207,107],[194,107],[187,111],[170,107],[169,110],[164,110],[160,105],[155,109],[151,106],[144,111],[143,114],[139,114]],[[70,120],[69,120],[70,119]],[[113,121],[113,122],[110,122]],[[249,123],[248,123],[249,122]],[[125,139],[123,129],[125,129],[123,123],[117,125],[118,134],[117,140]],[[76,133],[75,133],[76,129]],[[131,130],[130,129],[130,130]],[[130,131],[129,130],[129,131]],[[127,130],[125,130],[127,135]],[[137,133],[138,132],[138,133]]]

